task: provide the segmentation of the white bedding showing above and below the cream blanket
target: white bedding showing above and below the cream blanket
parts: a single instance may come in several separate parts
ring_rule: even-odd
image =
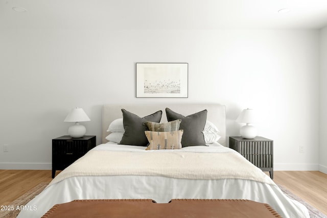
[[[215,147],[186,147],[171,152],[234,152],[219,144],[215,145]],[[144,151],[144,149],[145,147],[107,143],[93,150],[158,152]],[[57,177],[59,178],[59,175]],[[29,202],[28,205],[31,208],[36,207],[37,210],[21,211],[18,217],[40,217],[53,205],[76,199],[153,199],[158,203],[167,203],[171,199],[248,199],[270,204],[283,217],[309,217],[305,206],[287,198],[267,175],[266,177],[270,182],[244,179],[192,180],[131,175],[74,176],[58,182],[54,180],[40,195]]]

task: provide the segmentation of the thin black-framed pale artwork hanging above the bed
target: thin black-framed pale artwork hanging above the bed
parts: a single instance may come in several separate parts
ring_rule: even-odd
[[[136,98],[188,98],[188,63],[136,63]]]

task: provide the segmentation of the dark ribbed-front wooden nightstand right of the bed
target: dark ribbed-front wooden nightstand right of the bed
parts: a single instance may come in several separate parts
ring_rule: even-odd
[[[269,171],[273,179],[273,140],[259,136],[253,139],[230,136],[229,148],[239,152],[262,171]]]

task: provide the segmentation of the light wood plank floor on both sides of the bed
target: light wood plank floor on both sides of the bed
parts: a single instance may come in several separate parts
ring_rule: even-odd
[[[0,205],[9,205],[39,183],[51,180],[51,171],[0,170]],[[317,171],[275,171],[274,182],[327,214],[326,174]]]

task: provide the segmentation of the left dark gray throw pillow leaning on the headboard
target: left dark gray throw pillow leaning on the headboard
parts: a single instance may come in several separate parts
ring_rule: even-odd
[[[122,112],[125,132],[123,134],[122,140],[119,143],[130,144],[131,146],[147,146],[148,139],[144,133],[144,131],[147,129],[143,124],[148,121],[159,123],[162,111],[159,110],[142,118],[125,109],[122,109]]]

